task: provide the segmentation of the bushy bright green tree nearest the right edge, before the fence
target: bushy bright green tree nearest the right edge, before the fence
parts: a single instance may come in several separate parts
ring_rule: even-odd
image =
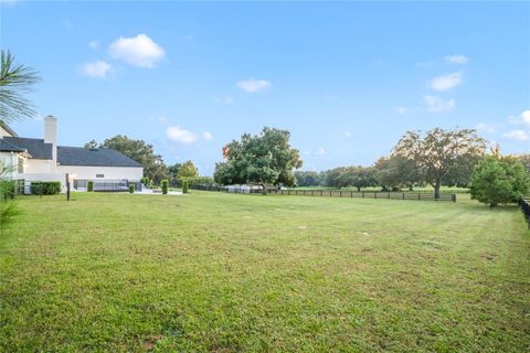
[[[517,202],[530,192],[530,174],[516,157],[494,153],[483,158],[473,172],[471,197],[495,207]]]

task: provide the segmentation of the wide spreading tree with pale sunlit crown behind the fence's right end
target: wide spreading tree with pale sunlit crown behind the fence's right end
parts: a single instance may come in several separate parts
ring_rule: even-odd
[[[439,197],[443,183],[466,183],[473,167],[484,156],[486,140],[476,130],[443,130],[435,128],[422,138],[417,131],[409,131],[401,138],[392,156],[414,162],[422,179],[434,188]]]

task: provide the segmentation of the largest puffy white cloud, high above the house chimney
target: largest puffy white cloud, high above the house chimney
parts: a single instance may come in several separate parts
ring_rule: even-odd
[[[110,44],[108,51],[114,58],[139,67],[153,67],[166,55],[163,47],[144,33],[134,38],[120,36]]]

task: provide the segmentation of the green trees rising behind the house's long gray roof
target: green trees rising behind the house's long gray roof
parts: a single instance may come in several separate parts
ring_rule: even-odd
[[[160,154],[155,154],[151,145],[142,140],[132,140],[126,136],[117,135],[103,143],[97,145],[92,140],[85,148],[112,148],[134,159],[144,167],[144,175],[152,183],[159,184],[162,179],[169,178],[169,171]]]

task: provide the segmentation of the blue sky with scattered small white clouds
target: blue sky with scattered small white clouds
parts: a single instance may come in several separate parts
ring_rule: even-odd
[[[409,129],[530,151],[530,3],[2,1],[2,49],[42,76],[60,145],[121,133],[202,174],[243,132],[288,129],[305,170],[371,164]]]

